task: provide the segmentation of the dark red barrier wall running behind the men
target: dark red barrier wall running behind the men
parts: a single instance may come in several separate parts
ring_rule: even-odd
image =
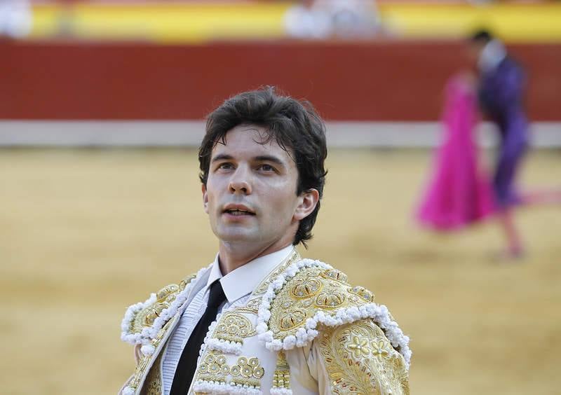
[[[277,85],[331,120],[435,120],[456,42],[0,42],[0,118],[200,119],[223,99]],[[511,47],[533,120],[561,120],[561,45]]]

